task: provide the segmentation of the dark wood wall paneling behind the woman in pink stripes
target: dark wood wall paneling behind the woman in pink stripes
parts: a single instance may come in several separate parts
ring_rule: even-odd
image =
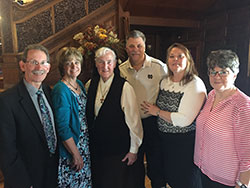
[[[249,76],[249,23],[250,8],[248,7],[231,7],[219,13],[209,15],[204,21],[205,46],[203,53],[202,78],[211,89],[208,77],[205,75],[205,59],[211,50],[231,49],[237,53],[240,58],[240,73],[236,80],[236,86],[243,92],[250,95]]]

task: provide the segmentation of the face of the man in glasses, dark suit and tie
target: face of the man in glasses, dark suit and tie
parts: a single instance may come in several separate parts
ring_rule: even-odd
[[[26,62],[19,62],[20,69],[24,72],[24,78],[34,87],[40,88],[42,81],[50,70],[47,56],[41,50],[32,49],[28,51],[26,59]],[[32,62],[36,62],[36,64]]]

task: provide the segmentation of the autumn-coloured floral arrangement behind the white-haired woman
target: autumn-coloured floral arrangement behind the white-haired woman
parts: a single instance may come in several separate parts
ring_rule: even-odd
[[[99,25],[89,26],[84,32],[76,34],[73,39],[78,42],[78,50],[85,60],[92,60],[95,50],[103,46],[115,50],[120,59],[125,57],[124,43],[117,38],[117,34]]]

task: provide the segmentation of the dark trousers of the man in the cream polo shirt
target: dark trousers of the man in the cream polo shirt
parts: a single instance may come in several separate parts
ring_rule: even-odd
[[[140,163],[138,178],[141,179],[142,185],[138,188],[145,187],[145,169],[144,154],[146,154],[147,169],[146,173],[151,180],[152,188],[160,188],[166,185],[163,173],[163,158],[161,153],[161,141],[157,127],[156,117],[150,116],[142,119],[143,125],[143,142],[139,148],[137,163]]]

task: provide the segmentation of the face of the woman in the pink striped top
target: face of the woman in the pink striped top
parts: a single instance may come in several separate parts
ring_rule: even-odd
[[[223,75],[219,75],[219,73],[216,73],[215,75],[209,74],[210,85],[216,91],[223,92],[234,87],[236,74],[234,74],[230,68],[222,69],[216,66],[214,67],[213,71],[224,72]]]

